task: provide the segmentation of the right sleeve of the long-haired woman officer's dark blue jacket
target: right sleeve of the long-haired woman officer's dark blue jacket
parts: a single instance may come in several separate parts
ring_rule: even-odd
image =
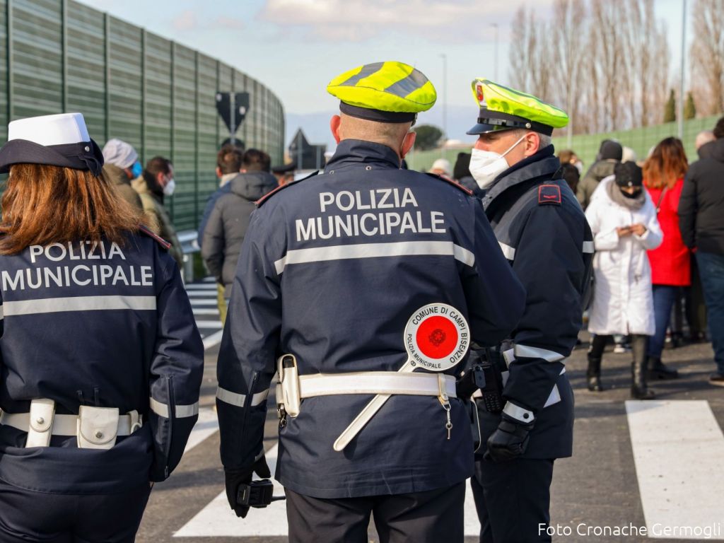
[[[151,481],[163,481],[180,462],[198,419],[203,342],[173,258],[159,251],[156,269],[156,345],[149,379],[149,424],[153,433]]]

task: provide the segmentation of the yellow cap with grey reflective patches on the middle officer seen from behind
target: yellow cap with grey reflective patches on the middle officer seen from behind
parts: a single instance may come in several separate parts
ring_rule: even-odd
[[[340,98],[340,111],[377,122],[414,122],[437,98],[432,83],[403,62],[374,62],[337,75],[327,92]]]

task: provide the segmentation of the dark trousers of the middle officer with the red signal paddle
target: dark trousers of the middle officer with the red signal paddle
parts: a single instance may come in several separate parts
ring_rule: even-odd
[[[370,515],[380,543],[462,543],[465,483],[452,487],[325,499],[287,489],[289,543],[367,543]]]

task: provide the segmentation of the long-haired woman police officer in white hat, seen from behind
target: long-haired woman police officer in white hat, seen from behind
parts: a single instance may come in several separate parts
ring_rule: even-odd
[[[102,165],[77,113],[11,122],[0,149],[3,542],[132,542],[197,418],[179,271]]]

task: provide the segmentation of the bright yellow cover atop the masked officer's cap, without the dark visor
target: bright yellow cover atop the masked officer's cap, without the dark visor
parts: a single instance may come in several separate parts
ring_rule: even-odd
[[[487,109],[489,113],[497,111],[515,115],[553,128],[568,125],[568,114],[563,109],[546,104],[531,94],[498,85],[482,77],[473,80],[472,88],[475,101],[481,109]]]

